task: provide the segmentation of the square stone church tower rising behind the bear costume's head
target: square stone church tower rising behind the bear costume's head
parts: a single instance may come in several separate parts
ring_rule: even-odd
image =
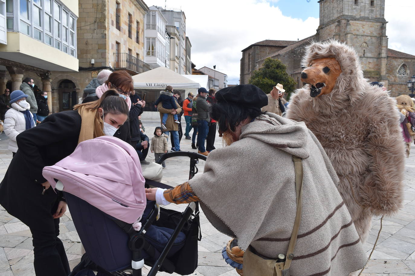
[[[385,82],[388,51],[385,0],[320,0],[319,41],[337,39],[359,54],[364,76]]]

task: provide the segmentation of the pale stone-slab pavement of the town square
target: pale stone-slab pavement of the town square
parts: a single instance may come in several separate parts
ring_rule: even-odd
[[[153,136],[157,122],[143,121],[146,134]],[[185,126],[183,125],[183,130]],[[7,150],[7,137],[0,135],[0,179],[3,178],[7,166],[12,159],[12,153]],[[216,147],[222,146],[222,140],[217,137]],[[191,149],[191,141],[181,140],[181,149]],[[154,154],[149,152],[147,161],[154,160]],[[203,171],[204,161],[200,161],[198,168]],[[164,169],[164,183],[176,186],[186,182],[189,173],[189,158],[169,158]],[[405,200],[402,210],[393,218],[383,220],[383,230],[378,240],[376,250],[369,261],[363,276],[407,276],[415,274],[415,146],[412,145],[412,154],[405,164]],[[186,204],[168,205],[168,208],[183,211]],[[199,264],[191,275],[199,276],[237,276],[238,274],[222,259],[221,250],[230,239],[219,233],[206,219],[201,217],[202,240],[199,242]],[[369,252],[376,240],[380,218],[374,218],[366,250]],[[69,211],[61,218],[60,236],[66,248],[71,268],[78,264],[81,258],[81,240],[76,233],[75,226]],[[17,218],[10,216],[0,206],[0,276],[32,276],[33,246],[30,230]],[[143,269],[143,275],[148,270]],[[159,273],[157,275],[177,275]]]

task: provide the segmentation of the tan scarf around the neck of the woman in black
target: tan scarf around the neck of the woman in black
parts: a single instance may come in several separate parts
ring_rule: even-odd
[[[80,106],[78,108],[78,113],[81,115],[81,132],[79,132],[78,144],[96,137],[105,135],[104,121],[98,113],[97,109],[85,108],[85,106]]]

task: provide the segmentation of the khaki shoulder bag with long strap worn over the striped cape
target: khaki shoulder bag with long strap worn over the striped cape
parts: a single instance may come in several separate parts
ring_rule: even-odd
[[[291,233],[290,243],[285,261],[281,259],[264,259],[255,254],[254,248],[249,246],[244,253],[244,276],[290,276],[291,260],[294,257],[295,242],[300,228],[301,211],[303,209],[303,163],[302,159],[293,156],[295,169],[295,190],[297,195],[297,213]],[[278,261],[278,262],[277,262]]]

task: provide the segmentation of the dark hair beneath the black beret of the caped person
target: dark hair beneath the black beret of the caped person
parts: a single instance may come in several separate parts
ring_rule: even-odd
[[[262,112],[260,108],[241,106],[232,102],[220,101],[212,106],[210,116],[219,123],[219,133],[230,130],[235,132],[236,126],[246,118],[255,119]]]

